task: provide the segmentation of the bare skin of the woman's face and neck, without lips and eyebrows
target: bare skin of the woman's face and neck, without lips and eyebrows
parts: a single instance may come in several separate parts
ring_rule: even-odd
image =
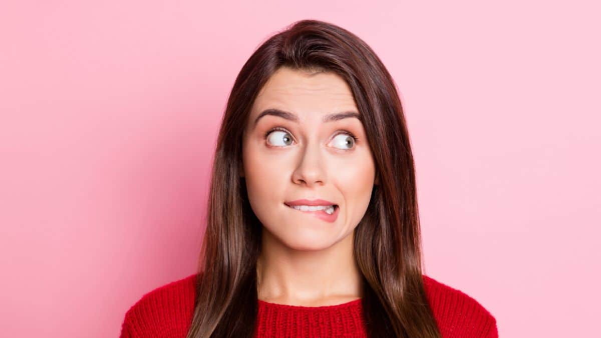
[[[265,115],[292,112],[299,121]],[[331,72],[278,69],[261,88],[243,137],[243,168],[252,210],[263,224],[257,260],[258,299],[328,306],[362,297],[353,255],[355,228],[367,210],[376,168],[358,118],[323,122],[358,108],[350,87]],[[285,131],[272,131],[280,127]],[[349,140],[349,131],[357,140]],[[334,223],[291,209],[301,198],[340,206]]]

